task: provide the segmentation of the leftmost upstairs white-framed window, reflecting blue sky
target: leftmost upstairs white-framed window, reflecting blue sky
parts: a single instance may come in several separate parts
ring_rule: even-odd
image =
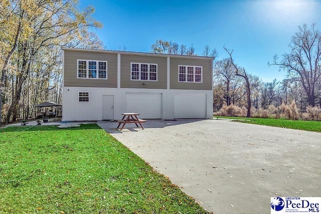
[[[77,78],[107,79],[107,62],[78,60]]]

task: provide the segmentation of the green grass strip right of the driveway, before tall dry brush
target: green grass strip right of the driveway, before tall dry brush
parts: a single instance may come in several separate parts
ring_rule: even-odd
[[[235,121],[242,122],[242,123],[251,123],[251,124],[258,124],[258,125],[321,132],[321,121],[302,121],[302,120],[246,118],[246,117],[218,117],[218,118],[235,119]]]

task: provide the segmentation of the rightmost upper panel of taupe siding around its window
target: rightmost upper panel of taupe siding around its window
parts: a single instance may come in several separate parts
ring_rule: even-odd
[[[212,90],[212,63],[210,60],[171,57],[170,89]],[[179,65],[202,66],[203,82],[179,82]]]

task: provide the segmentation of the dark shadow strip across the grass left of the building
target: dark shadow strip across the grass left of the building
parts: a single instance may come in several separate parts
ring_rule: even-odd
[[[11,126],[0,129],[0,134],[4,132],[16,131],[63,131],[63,130],[85,130],[85,129],[101,129],[96,123],[81,124],[80,127],[58,128],[58,125],[49,126]]]

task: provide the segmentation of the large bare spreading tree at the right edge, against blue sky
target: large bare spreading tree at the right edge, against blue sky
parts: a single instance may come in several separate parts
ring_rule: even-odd
[[[283,54],[278,62],[275,55],[273,63],[287,72],[292,81],[299,81],[306,93],[308,104],[315,105],[315,87],[321,76],[321,34],[315,24],[308,29],[306,24],[298,27],[298,32],[289,44],[290,53]]]

